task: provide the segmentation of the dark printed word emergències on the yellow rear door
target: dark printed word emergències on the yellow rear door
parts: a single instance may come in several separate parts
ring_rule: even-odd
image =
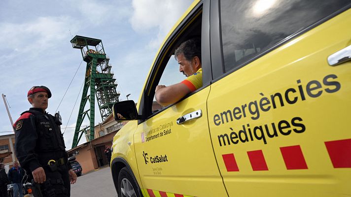
[[[338,78],[335,74],[329,74],[323,78],[323,84],[327,86],[324,88],[324,91],[327,93],[335,93],[340,90],[341,84],[338,81],[331,81],[330,79],[336,79]],[[297,84],[300,84],[301,80],[297,80]],[[306,93],[309,97],[311,98],[317,98],[323,93],[322,85],[319,81],[317,80],[312,80],[307,83],[305,90]],[[281,95],[281,93],[275,93],[271,95],[270,97],[264,97],[263,93],[260,93],[260,95],[263,97],[259,101],[254,100],[249,102],[248,104],[242,104],[241,106],[236,106],[233,108],[233,110],[226,110],[223,111],[219,114],[214,114],[213,115],[213,123],[215,126],[219,126],[221,124],[228,123],[229,121],[232,122],[234,119],[240,120],[241,118],[245,118],[247,116],[247,110],[249,114],[252,116],[250,117],[252,120],[257,120],[260,118],[260,110],[263,112],[267,112],[270,109],[276,109],[277,103],[276,103],[276,98],[279,99],[279,103],[281,107],[284,106],[284,100],[288,104],[294,104],[297,101],[303,101],[306,100],[304,88],[302,85],[298,85],[298,93],[295,88],[289,88],[285,91],[283,94],[284,97]],[[295,96],[295,97],[294,97]],[[234,118],[234,119],[233,119]]]

